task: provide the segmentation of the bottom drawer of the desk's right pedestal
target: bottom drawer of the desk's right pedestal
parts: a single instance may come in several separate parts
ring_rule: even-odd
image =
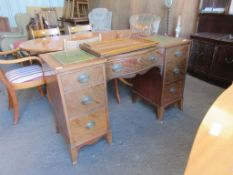
[[[176,83],[166,85],[164,90],[164,102],[170,103],[170,101],[175,98],[181,97],[183,94],[183,81],[178,81]]]

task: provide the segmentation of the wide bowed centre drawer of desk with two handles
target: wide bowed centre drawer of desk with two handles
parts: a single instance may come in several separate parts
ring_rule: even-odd
[[[111,57],[106,64],[107,79],[129,77],[163,64],[163,49],[147,49]]]

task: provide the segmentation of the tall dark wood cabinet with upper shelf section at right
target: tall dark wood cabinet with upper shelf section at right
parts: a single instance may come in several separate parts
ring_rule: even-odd
[[[233,80],[233,16],[228,14],[228,1],[224,1],[225,4],[219,1],[212,7],[221,9],[222,13],[214,13],[216,10],[203,13],[211,6],[204,2],[200,7],[197,33],[191,35],[189,72],[226,86]]]

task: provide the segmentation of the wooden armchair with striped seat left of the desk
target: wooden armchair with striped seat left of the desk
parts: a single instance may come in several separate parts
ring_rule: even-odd
[[[16,52],[18,52],[18,49],[0,52],[0,56],[15,54]],[[25,57],[13,60],[0,60],[0,65],[17,64],[32,60],[36,60],[40,63],[40,59],[38,57]],[[43,96],[45,95],[41,88],[41,86],[45,84],[43,71],[39,65],[21,66],[20,68],[15,68],[7,72],[4,72],[0,68],[0,81],[5,85],[8,93],[9,109],[13,108],[14,110],[14,124],[17,124],[19,120],[19,104],[16,96],[16,90],[37,87],[40,94]]]

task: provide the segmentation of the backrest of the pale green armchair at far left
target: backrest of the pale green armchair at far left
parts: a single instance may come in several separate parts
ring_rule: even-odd
[[[29,24],[31,17],[27,13],[18,13],[15,15],[15,22],[19,29],[19,32],[24,36],[27,36],[27,25]]]

